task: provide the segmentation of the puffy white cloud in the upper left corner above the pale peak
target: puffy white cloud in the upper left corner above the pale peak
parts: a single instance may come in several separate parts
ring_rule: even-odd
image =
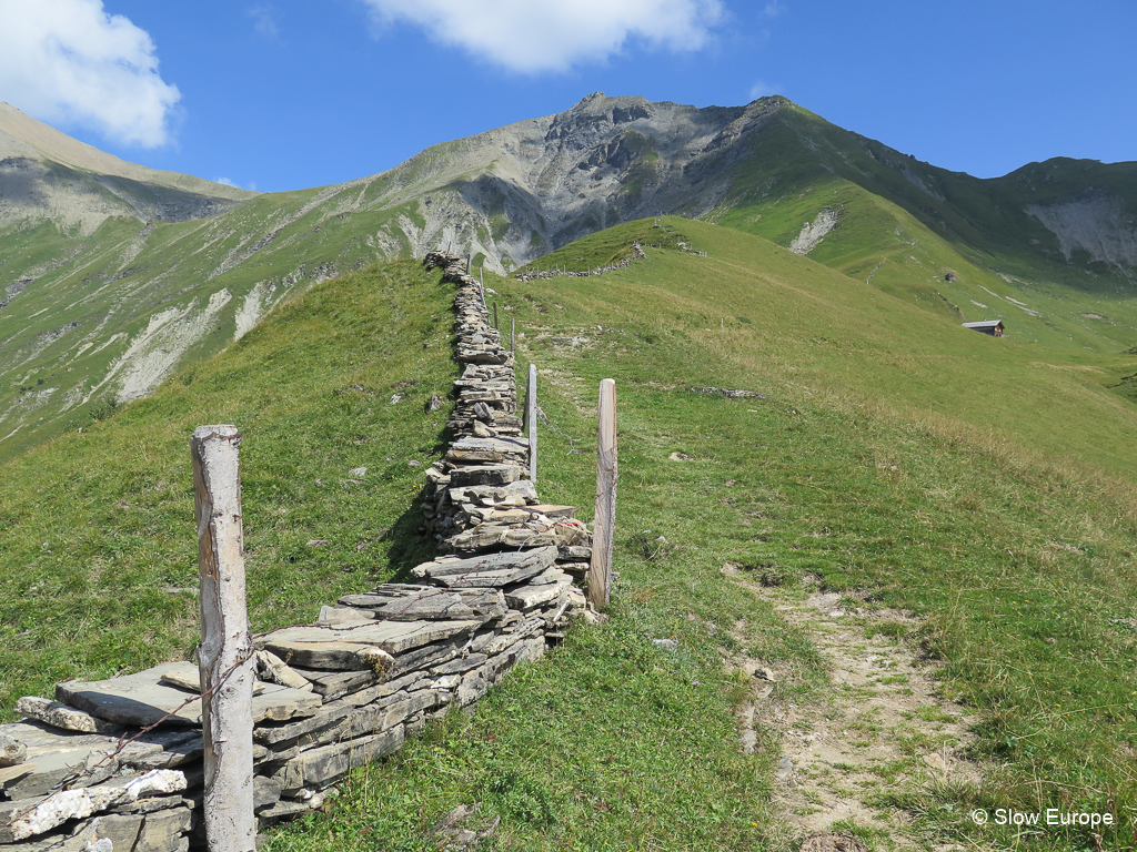
[[[0,100],[125,144],[169,141],[181,100],[150,35],[101,0],[0,0]]]

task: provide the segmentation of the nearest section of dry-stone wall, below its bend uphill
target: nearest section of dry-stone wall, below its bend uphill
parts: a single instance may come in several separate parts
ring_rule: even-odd
[[[554,549],[460,574],[446,560],[428,562],[417,573],[433,585],[381,584],[325,607],[314,625],[256,637],[260,826],[321,807],[350,769],[397,751],[450,705],[476,701],[520,660],[538,659],[549,626],[584,605],[555,558]],[[56,701],[22,699],[26,718],[0,726],[18,752],[0,769],[9,800],[0,802],[0,850],[84,852],[108,838],[124,852],[174,852],[204,843],[198,691],[198,667],[177,662],[59,684]],[[117,794],[132,785],[133,795]]]

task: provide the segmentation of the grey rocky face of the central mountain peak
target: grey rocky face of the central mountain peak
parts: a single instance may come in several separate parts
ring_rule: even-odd
[[[376,202],[420,199],[422,223],[400,223],[415,252],[481,253],[503,272],[629,219],[706,214],[730,189],[723,166],[736,143],[787,105],[698,109],[596,93],[565,112],[429,149],[373,178],[390,187]]]

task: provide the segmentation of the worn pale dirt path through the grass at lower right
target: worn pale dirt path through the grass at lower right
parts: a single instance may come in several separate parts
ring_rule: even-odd
[[[724,573],[735,570],[725,566]],[[763,587],[745,574],[736,580],[805,632],[828,675],[820,695],[798,703],[791,687],[804,683],[802,673],[733,660],[753,679],[740,708],[744,750],[754,749],[763,728],[781,742],[774,801],[785,845],[796,849],[802,838],[815,837],[803,849],[837,849],[840,843],[824,845],[833,842],[825,835],[855,826],[881,850],[962,849],[919,838],[906,813],[880,802],[888,792],[980,778],[979,767],[962,757],[973,719],[937,693],[935,668],[895,638],[913,619],[836,593]],[[737,625],[736,638],[747,644],[745,624]],[[847,846],[858,847],[865,849]]]

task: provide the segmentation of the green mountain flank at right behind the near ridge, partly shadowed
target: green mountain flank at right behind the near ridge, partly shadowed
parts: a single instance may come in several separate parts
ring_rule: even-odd
[[[1132,259],[1067,258],[1028,212],[1109,195],[1111,215],[1131,229],[1134,164],[1055,159],[984,181],[787,103],[727,170],[731,190],[708,222],[788,248],[806,223],[833,210],[836,227],[808,257],[927,310],[961,321],[1004,317],[1016,337],[1101,353],[1137,337]]]

